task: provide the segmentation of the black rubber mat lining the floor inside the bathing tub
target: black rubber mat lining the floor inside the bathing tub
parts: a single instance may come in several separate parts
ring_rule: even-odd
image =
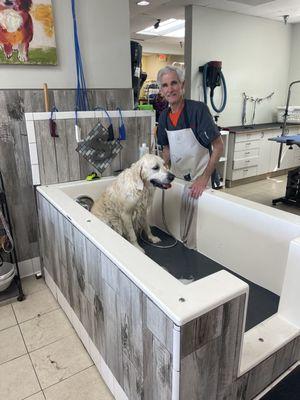
[[[153,234],[162,239],[162,245],[169,245],[174,239],[157,228],[152,229]],[[198,280],[222,269],[232,273],[249,285],[249,302],[246,318],[246,331],[275,314],[278,309],[279,296],[235,274],[229,269],[216,263],[210,258],[195,250],[187,249],[178,242],[175,247],[159,249],[140,241],[148,257],[165,268],[177,279]],[[299,396],[300,400],[300,396]]]

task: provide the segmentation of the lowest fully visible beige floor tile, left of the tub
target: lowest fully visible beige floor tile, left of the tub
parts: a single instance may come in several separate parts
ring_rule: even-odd
[[[30,353],[30,357],[42,389],[93,365],[75,334]]]

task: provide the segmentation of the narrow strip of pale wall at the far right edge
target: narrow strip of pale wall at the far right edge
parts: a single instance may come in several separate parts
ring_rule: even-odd
[[[293,81],[300,80],[300,23],[292,24],[292,45],[291,45],[291,63],[290,63],[290,73],[289,81],[290,84]],[[286,88],[286,95],[288,92],[288,87]],[[284,102],[285,104],[285,102]],[[300,83],[296,83],[291,89],[291,99],[290,104],[294,106],[300,106]]]

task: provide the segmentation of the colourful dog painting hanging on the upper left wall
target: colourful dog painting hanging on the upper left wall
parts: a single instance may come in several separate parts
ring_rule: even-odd
[[[57,64],[51,0],[0,0],[0,63]]]

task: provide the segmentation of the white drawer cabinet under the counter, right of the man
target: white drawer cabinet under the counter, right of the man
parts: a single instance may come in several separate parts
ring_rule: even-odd
[[[289,135],[297,133],[300,126],[289,127]],[[291,150],[284,145],[278,169],[280,144],[269,139],[280,135],[279,128],[230,133],[226,179],[235,181],[299,166],[300,148],[293,146]]]

